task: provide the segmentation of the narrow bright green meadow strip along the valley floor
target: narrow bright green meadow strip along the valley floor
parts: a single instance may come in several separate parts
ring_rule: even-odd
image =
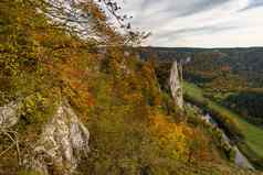
[[[243,141],[238,141],[241,151],[250,158],[255,160],[257,165],[262,165],[263,161],[263,129],[253,125],[242,119],[239,114],[230,111],[225,107],[203,97],[202,90],[196,85],[185,83],[185,95],[189,97],[193,103],[204,108],[208,112],[217,111],[221,116],[229,118],[239,128],[241,134],[244,136]],[[200,105],[206,101],[206,106]],[[228,120],[228,119],[227,119]],[[224,125],[224,124],[223,124]],[[231,127],[230,127],[231,130]]]

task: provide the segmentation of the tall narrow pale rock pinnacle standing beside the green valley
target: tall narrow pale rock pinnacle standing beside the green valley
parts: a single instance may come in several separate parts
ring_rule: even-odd
[[[183,108],[183,97],[182,97],[182,67],[173,62],[170,70],[170,90],[175,103],[179,108]]]

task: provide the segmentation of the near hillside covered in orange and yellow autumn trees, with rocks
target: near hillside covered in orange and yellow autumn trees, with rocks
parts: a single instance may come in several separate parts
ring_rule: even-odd
[[[63,2],[0,1],[1,175],[261,174],[127,55],[116,3]]]

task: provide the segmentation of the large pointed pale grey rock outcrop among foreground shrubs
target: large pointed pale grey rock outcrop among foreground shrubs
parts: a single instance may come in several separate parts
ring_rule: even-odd
[[[33,152],[24,158],[28,168],[49,174],[52,167],[72,174],[82,156],[87,155],[90,132],[64,101],[44,125]]]

